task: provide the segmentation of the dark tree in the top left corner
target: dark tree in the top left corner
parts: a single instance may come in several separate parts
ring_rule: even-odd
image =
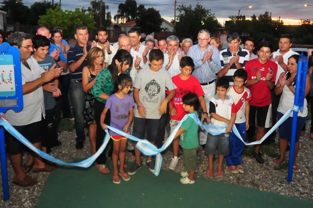
[[[3,0],[1,4],[0,9],[7,12],[7,20],[26,24],[29,8],[22,0]]]

